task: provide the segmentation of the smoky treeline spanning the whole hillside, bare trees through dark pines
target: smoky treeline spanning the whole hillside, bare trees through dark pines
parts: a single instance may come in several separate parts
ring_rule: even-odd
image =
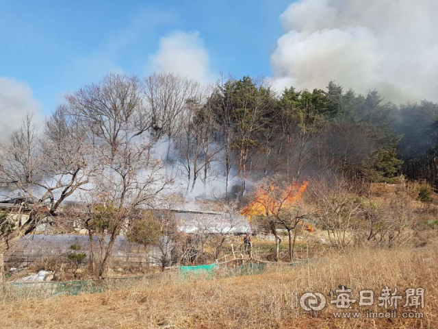
[[[44,177],[62,174],[64,186],[68,176],[71,188],[79,175],[88,184],[96,164],[120,160],[116,167],[126,167],[121,159],[131,156],[133,165],[135,153],[134,167],[159,173],[163,188],[177,181],[188,194],[198,184],[196,194],[204,197],[212,197],[207,186],[217,182],[224,188],[214,197],[242,197],[247,182],[273,173],[302,180],[331,171],[367,182],[402,174],[437,186],[437,134],[437,103],[396,105],[378,90],[361,95],[335,82],[325,90],[276,93],[249,76],[201,86],[172,74],[110,74],[66,95],[42,127],[31,116],[23,121],[1,148],[1,185],[8,191],[31,185],[57,199]]]

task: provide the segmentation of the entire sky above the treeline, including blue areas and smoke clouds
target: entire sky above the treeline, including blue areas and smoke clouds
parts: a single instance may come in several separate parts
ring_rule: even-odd
[[[438,101],[436,0],[0,0],[0,141],[110,72]]]

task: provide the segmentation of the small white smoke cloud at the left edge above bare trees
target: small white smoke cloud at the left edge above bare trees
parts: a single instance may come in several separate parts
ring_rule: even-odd
[[[34,123],[40,123],[40,110],[40,103],[34,99],[31,88],[25,82],[0,77],[0,141],[8,140],[28,112],[34,114]]]

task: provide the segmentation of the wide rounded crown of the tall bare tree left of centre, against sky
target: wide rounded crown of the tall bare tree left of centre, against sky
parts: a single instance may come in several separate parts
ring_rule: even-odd
[[[114,156],[120,145],[153,126],[151,111],[144,106],[143,98],[138,77],[112,73],[97,84],[67,95],[66,101],[70,114],[88,128],[90,138],[97,145],[110,145]]]

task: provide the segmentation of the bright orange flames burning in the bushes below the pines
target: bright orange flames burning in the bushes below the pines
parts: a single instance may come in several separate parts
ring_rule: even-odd
[[[295,181],[287,185],[284,191],[279,191],[279,187],[273,182],[268,186],[259,186],[255,199],[243,208],[242,215],[248,220],[251,220],[252,216],[277,216],[282,209],[290,209],[301,201],[307,185],[307,181],[302,184]]]

